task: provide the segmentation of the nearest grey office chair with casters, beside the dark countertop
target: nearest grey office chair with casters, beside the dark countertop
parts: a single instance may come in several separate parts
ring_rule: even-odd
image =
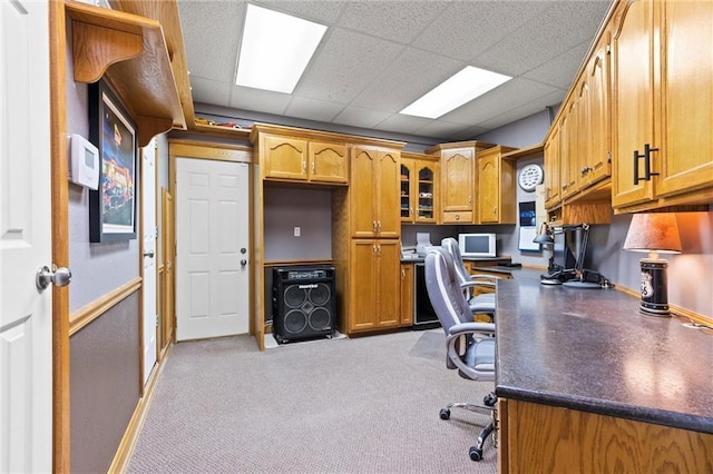
[[[438,319],[446,332],[446,366],[458,369],[461,377],[471,381],[495,381],[495,325],[473,323],[470,307],[456,277],[456,265],[450,254],[432,247],[426,256],[426,288]],[[468,454],[472,461],[482,460],[482,445],[497,431],[497,398],[490,393],[484,405],[449,403],[440,411],[441,419],[450,418],[451,408],[491,415],[491,422],[480,432]],[[497,436],[494,441],[497,447]]]

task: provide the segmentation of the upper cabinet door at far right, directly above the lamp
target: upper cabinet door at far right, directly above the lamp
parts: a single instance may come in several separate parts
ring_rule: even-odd
[[[661,176],[656,195],[713,186],[713,2],[661,2]]]

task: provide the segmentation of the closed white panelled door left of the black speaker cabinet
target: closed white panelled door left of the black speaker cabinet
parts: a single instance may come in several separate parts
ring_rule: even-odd
[[[247,164],[176,159],[176,339],[250,329]]]

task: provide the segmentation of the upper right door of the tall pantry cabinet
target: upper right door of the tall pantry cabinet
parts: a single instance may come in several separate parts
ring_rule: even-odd
[[[392,238],[401,235],[399,201],[401,176],[399,151],[379,151],[375,172],[375,220],[377,235]]]

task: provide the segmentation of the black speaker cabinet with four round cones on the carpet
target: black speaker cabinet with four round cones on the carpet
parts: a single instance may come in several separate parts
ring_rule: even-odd
[[[272,308],[272,332],[280,344],[331,337],[336,324],[334,268],[273,268]]]

